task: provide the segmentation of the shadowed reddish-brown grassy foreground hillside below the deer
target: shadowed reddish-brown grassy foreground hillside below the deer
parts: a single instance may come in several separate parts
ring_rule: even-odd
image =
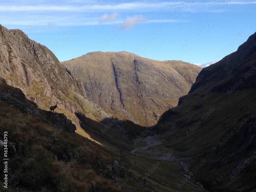
[[[81,127],[104,145],[76,134],[64,114],[37,108],[24,93],[0,81],[0,163],[7,140],[7,192],[177,191],[182,166],[131,154],[132,141],[103,123],[79,116]],[[130,127],[129,122],[115,122]],[[130,122],[132,125],[132,122]],[[131,129],[133,127],[130,127]],[[137,130],[143,127],[136,125]],[[129,130],[129,129],[127,129]],[[134,134],[138,134],[137,132]],[[129,131],[128,131],[129,132]],[[4,138],[5,136],[5,138]],[[167,152],[166,152],[167,153]],[[158,163],[158,164],[157,164]],[[146,175],[148,168],[159,165]],[[154,168],[155,169],[155,168]],[[4,178],[4,172],[0,173]],[[171,178],[171,179],[170,179]],[[205,191],[190,181],[186,190]]]

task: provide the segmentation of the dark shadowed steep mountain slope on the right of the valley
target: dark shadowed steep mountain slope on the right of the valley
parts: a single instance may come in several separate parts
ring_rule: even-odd
[[[202,69],[189,94],[155,127],[165,132],[164,145],[185,158],[190,176],[210,191],[256,188],[255,94],[256,33]]]

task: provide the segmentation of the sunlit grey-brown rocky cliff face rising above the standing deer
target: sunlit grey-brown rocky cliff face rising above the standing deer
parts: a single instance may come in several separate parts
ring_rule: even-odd
[[[21,30],[8,30],[1,25],[0,74],[43,109],[58,102],[74,113],[74,107],[65,100],[65,92],[85,92],[81,81],[70,76],[47,47],[29,39]]]

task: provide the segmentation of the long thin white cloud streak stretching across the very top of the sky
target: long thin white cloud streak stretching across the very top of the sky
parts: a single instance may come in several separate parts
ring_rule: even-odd
[[[249,4],[256,4],[256,1],[230,1],[232,5],[249,5]],[[111,10],[140,10],[141,12],[157,12],[159,9],[166,10],[166,11],[174,11],[179,9],[180,6],[184,6],[184,12],[209,12],[211,10],[225,10],[225,5],[230,5],[229,1],[201,1],[201,2],[186,2],[186,1],[178,1],[178,2],[157,2],[157,3],[150,3],[147,2],[141,6],[141,2],[131,2],[131,3],[119,3],[119,4],[100,4],[97,7],[97,10],[101,11],[111,11]],[[10,1],[8,1],[10,3]],[[5,9],[8,6],[7,2],[2,2],[0,5],[0,9]],[[94,4],[90,2],[84,2],[80,5],[63,5],[58,6],[55,4],[52,5],[44,5],[44,4],[36,4],[30,6],[17,6],[17,3],[14,3],[10,7],[10,11],[74,11],[74,12],[83,12],[86,10],[90,10]],[[30,3],[31,4],[31,3]]]

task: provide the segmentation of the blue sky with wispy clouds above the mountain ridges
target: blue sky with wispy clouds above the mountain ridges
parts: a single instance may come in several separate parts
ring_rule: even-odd
[[[60,61],[128,51],[207,66],[256,31],[256,1],[1,0],[0,24],[21,29]]]

